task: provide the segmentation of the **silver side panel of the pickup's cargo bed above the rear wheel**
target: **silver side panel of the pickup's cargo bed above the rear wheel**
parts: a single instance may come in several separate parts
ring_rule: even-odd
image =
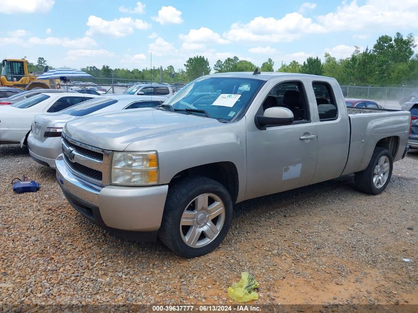
[[[380,117],[381,116],[381,117]],[[396,136],[399,147],[405,147],[410,127],[409,113],[371,112],[367,114],[349,114],[351,124],[350,151],[347,165],[341,175],[363,171],[369,165],[377,142],[383,138]],[[404,149],[397,149],[393,160],[402,158]]]

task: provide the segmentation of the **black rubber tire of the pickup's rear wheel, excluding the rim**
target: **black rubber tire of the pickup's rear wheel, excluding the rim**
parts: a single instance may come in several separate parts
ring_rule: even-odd
[[[389,175],[385,183],[377,188],[373,183],[373,175],[377,162],[382,156],[386,156],[389,159]],[[385,148],[375,147],[372,154],[372,158],[366,170],[355,173],[356,189],[369,194],[381,193],[386,188],[387,184],[390,181],[390,178],[392,177],[392,170],[392,154]]]

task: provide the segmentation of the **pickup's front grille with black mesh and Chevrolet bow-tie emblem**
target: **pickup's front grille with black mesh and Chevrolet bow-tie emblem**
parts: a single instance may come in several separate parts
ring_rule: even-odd
[[[73,140],[65,134],[61,143],[64,161],[74,175],[101,186],[109,184],[111,151]]]

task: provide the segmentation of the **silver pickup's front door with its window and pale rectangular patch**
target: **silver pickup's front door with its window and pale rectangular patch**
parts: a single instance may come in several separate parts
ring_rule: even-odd
[[[275,99],[273,99],[274,97]],[[258,129],[247,119],[247,186],[245,198],[272,194],[308,185],[315,173],[318,127],[301,82],[281,83],[263,104],[282,106],[294,113],[292,125]]]

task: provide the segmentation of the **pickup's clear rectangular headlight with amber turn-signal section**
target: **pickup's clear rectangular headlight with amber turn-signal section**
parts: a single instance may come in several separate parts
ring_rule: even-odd
[[[113,152],[111,181],[125,186],[158,184],[157,152]]]

